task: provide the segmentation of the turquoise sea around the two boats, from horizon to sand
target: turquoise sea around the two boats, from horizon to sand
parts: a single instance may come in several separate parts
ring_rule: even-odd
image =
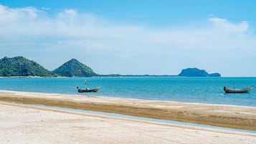
[[[76,87],[100,87],[98,92],[78,93]],[[256,77],[67,77],[0,78],[0,90],[49,92],[72,95],[128,97],[256,107],[255,89],[245,94],[225,94],[223,87],[250,87]]]

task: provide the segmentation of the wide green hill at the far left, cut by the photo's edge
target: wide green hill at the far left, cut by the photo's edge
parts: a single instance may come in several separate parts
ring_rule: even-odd
[[[4,57],[0,59],[0,76],[39,76],[52,77],[54,74],[40,64],[24,57]]]

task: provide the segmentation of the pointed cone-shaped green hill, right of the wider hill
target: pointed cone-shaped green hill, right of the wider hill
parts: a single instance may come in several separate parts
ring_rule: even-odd
[[[97,76],[93,69],[82,64],[77,59],[71,59],[70,61],[62,64],[57,69],[52,71],[56,75],[64,77],[93,77]]]

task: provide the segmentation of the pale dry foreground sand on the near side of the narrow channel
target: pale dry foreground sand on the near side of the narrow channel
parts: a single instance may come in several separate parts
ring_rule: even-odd
[[[255,144],[256,134],[0,102],[1,144]]]

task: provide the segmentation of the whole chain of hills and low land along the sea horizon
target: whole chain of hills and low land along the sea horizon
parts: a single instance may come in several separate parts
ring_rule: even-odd
[[[57,69],[49,71],[37,62],[25,57],[4,57],[0,59],[0,77],[221,77],[219,73],[209,74],[203,69],[182,69],[179,75],[99,75],[77,59],[70,59]]]

